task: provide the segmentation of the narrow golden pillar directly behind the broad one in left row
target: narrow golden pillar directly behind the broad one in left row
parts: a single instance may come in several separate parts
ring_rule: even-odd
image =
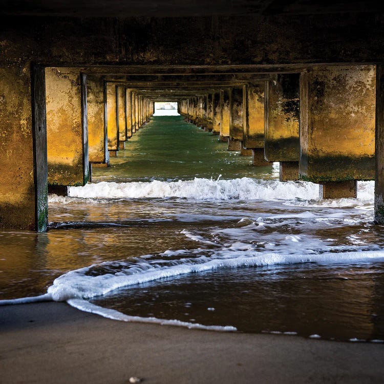
[[[104,123],[104,81],[87,75],[87,125],[89,162],[109,163],[108,139]]]

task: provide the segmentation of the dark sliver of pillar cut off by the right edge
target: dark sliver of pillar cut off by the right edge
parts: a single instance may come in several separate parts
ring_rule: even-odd
[[[375,223],[384,224],[384,66],[376,66]]]

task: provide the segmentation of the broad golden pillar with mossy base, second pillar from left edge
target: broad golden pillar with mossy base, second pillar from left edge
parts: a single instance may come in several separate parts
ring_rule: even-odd
[[[88,182],[87,77],[46,68],[48,184]]]

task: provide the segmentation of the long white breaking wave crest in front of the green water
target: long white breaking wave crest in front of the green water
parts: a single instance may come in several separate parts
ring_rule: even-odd
[[[166,198],[195,200],[292,200],[316,199],[318,185],[308,182],[280,182],[243,177],[231,180],[100,182],[70,187],[70,196],[81,198]]]

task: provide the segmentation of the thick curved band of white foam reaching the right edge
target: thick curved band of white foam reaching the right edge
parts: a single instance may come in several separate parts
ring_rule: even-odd
[[[200,250],[201,251],[201,250]],[[207,252],[206,252],[207,253]],[[384,261],[384,251],[361,251],[322,254],[279,254],[255,251],[212,252],[209,256],[180,260],[137,260],[137,262],[105,262],[97,267],[85,267],[59,276],[48,293],[55,301],[71,298],[90,298],[104,295],[115,289],[187,273],[197,273],[221,268],[257,267],[297,263],[342,263],[351,261]],[[100,272],[100,270],[104,272]]]

